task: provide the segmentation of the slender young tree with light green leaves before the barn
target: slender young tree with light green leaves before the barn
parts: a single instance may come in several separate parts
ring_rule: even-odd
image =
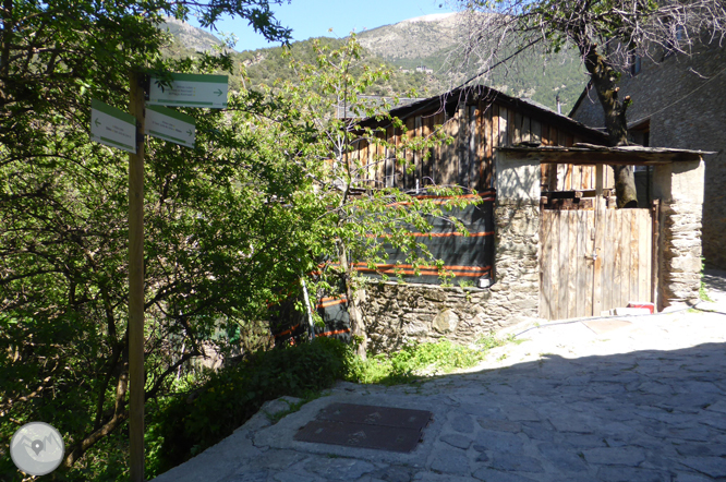
[[[451,198],[436,204],[410,196],[401,189],[376,185],[372,173],[385,160],[385,153],[395,156],[399,165],[413,169],[411,160],[407,160],[407,150],[421,150],[427,156],[431,147],[450,140],[436,129],[426,138],[401,135],[397,145],[386,141],[386,126],[399,133],[406,133],[406,126],[388,113],[389,103],[363,95],[376,82],[387,80],[390,72],[361,62],[361,46],[354,35],[337,49],[318,41],[314,48],[316,62],[293,60],[297,81],[279,84],[274,91],[276,104],[286,106],[280,110],[290,113],[278,124],[287,135],[277,134],[276,138],[280,143],[290,133],[298,133],[297,147],[286,149],[295,153],[292,160],[302,167],[312,183],[301,202],[319,213],[308,242],[312,260],[323,265],[322,277],[317,282],[308,281],[348,299],[351,332],[360,341],[359,354],[365,357],[366,332],[356,297],[356,289],[364,280],[356,275],[355,263],[374,267],[385,260],[384,246],[388,244],[406,252],[408,264],[416,270],[432,265],[440,268],[441,263],[410,232],[429,231],[431,216],[443,216],[443,209],[462,207],[471,201]],[[363,118],[376,118],[383,126],[363,126]],[[355,150],[362,143],[378,154],[361,159]],[[461,189],[432,186],[429,193],[455,196]],[[451,222],[463,229],[457,220]],[[440,273],[445,275],[443,269]]]

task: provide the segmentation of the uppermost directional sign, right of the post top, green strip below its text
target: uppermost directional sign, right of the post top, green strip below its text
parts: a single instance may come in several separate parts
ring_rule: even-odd
[[[227,75],[170,74],[171,86],[152,77],[149,106],[227,108]]]

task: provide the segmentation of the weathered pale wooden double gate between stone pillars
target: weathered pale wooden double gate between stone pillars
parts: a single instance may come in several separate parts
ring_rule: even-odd
[[[540,316],[600,316],[629,301],[652,301],[650,209],[542,213]]]

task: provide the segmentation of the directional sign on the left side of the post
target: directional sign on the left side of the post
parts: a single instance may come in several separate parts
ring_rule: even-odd
[[[136,119],[100,100],[90,100],[90,140],[136,154]]]

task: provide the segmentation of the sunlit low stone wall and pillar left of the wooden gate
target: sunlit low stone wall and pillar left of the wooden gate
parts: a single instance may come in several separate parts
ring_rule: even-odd
[[[498,204],[494,216],[496,275],[489,288],[391,281],[365,288],[360,306],[371,350],[386,352],[407,341],[441,337],[469,344],[537,316],[539,205]]]

